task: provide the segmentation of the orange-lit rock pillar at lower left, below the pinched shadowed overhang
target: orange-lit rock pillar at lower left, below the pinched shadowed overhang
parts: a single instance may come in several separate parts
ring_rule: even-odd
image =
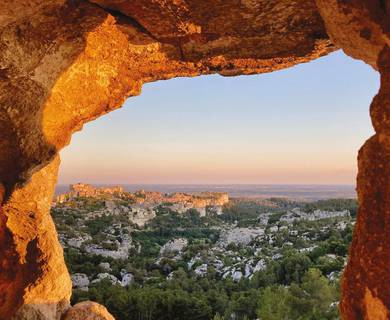
[[[50,216],[59,158],[32,175],[1,209],[2,319],[23,304],[16,319],[55,319],[69,305],[71,281]]]

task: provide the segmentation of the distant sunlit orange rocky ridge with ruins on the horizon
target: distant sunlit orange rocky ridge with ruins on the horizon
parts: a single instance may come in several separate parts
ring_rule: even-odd
[[[229,195],[225,192],[163,194],[140,190],[130,193],[124,192],[122,187],[95,188],[85,183],[70,185],[69,189],[69,192],[56,197],[54,208],[59,206],[79,210],[90,218],[124,215],[139,227],[145,226],[149,220],[156,217],[159,207],[179,213],[195,209],[204,216],[207,211],[221,214],[222,206],[229,202]],[[95,207],[91,208],[89,200],[97,202]]]

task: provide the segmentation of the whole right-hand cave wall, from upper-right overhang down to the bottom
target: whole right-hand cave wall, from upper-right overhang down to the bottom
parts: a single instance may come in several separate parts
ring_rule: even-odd
[[[376,134],[359,151],[359,214],[344,273],[344,319],[390,318],[390,3],[317,0],[330,37],[381,74],[371,104]]]

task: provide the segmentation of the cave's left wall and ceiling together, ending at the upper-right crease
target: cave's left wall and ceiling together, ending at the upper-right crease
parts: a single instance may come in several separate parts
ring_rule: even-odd
[[[114,1],[101,4],[114,11],[78,0],[2,1],[0,314],[5,319],[22,305],[45,304],[53,309],[48,317],[58,318],[57,305],[69,301],[71,281],[49,203],[56,154],[85,122],[119,108],[144,82],[270,72],[334,50],[314,1],[263,2],[254,12],[252,1],[239,9],[231,1],[138,3],[145,10],[142,19],[115,11]],[[166,21],[174,5],[180,12],[194,10],[194,16],[174,13]],[[214,22],[203,16],[206,7]],[[176,15],[180,19],[173,21]],[[229,27],[221,23],[226,17]],[[183,36],[165,30],[187,22],[201,26],[194,27],[194,36],[191,27],[184,27]]]

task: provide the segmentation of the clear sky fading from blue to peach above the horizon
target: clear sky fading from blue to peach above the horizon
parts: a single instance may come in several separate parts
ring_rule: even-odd
[[[61,152],[59,184],[355,184],[379,75],[337,51],[268,74],[145,84]]]

